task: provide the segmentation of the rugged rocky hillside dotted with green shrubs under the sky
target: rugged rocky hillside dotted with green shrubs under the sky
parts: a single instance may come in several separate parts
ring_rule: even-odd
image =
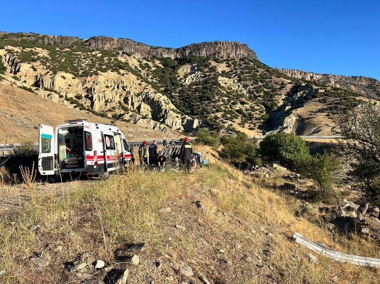
[[[177,131],[328,135],[339,111],[380,99],[375,79],[271,68],[239,42],[174,49],[106,36],[2,32],[0,58],[3,82],[95,115]]]

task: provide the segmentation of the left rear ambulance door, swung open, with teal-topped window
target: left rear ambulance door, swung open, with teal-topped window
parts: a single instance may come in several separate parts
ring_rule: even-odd
[[[41,175],[53,175],[54,129],[47,125],[39,125],[38,129],[38,171]]]

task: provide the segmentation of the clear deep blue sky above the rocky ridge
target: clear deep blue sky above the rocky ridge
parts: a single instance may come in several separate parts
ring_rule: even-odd
[[[109,35],[167,47],[237,40],[273,67],[380,79],[380,0],[0,3],[0,31]]]

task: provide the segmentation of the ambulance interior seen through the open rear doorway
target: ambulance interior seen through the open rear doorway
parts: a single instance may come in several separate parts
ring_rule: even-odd
[[[58,129],[58,162],[62,170],[84,168],[83,126]]]

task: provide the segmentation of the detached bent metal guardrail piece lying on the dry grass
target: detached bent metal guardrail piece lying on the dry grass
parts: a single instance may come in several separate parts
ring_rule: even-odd
[[[348,262],[348,263],[360,265],[360,266],[380,267],[379,258],[372,258],[372,257],[359,256],[355,254],[337,252],[329,248],[326,248],[325,246],[318,244],[308,238],[305,238],[303,235],[297,232],[294,233],[293,238],[296,239],[296,243],[302,246],[305,246],[309,250],[320,253],[322,255],[326,255],[327,257],[330,257],[336,261]]]

